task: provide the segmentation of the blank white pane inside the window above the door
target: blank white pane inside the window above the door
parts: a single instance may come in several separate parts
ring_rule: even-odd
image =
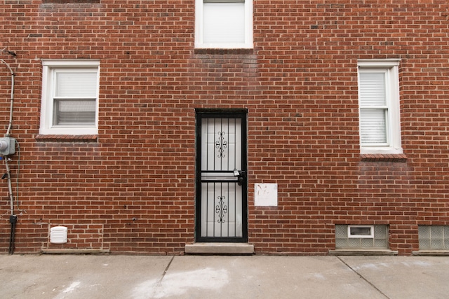
[[[244,43],[245,3],[205,2],[204,43]]]

